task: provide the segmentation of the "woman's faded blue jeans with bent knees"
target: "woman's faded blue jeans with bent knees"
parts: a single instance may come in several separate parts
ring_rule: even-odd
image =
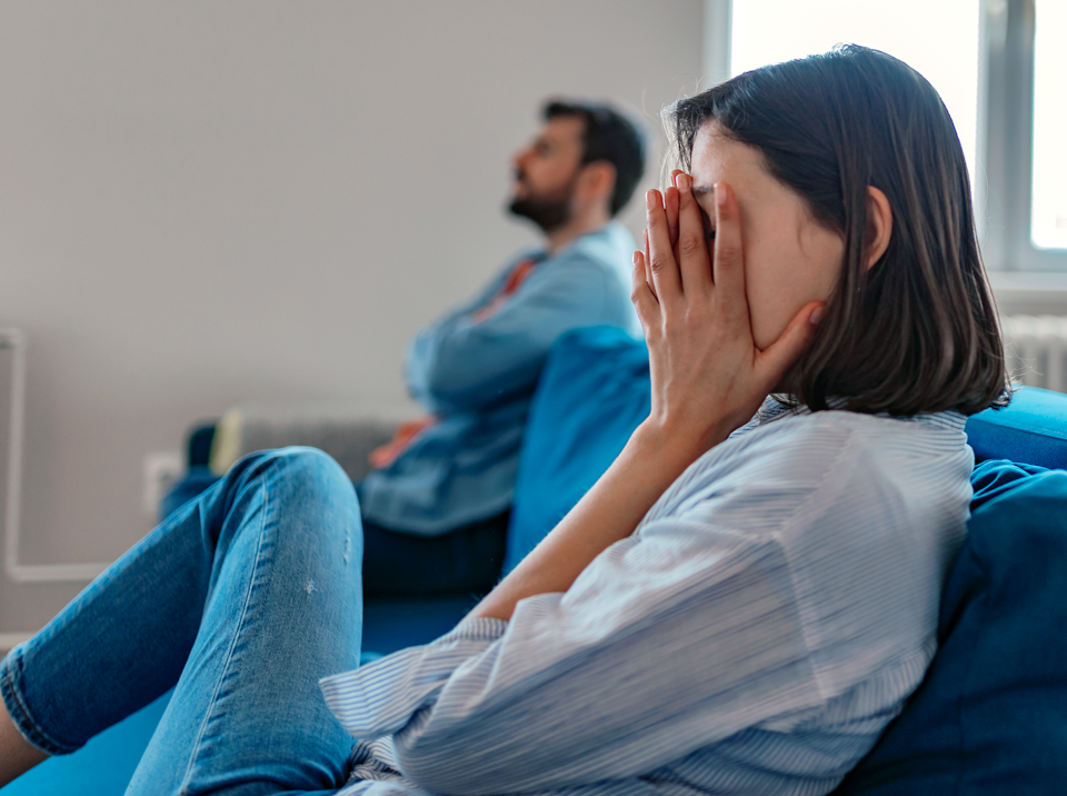
[[[352,739],[318,681],[358,665],[362,554],[332,459],[248,456],[0,661],[8,713],[62,754],[174,687],[128,794],[331,793]]]

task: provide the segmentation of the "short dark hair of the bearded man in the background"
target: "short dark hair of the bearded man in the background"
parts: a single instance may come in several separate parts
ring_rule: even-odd
[[[554,99],[545,103],[541,116],[545,121],[577,117],[585,122],[581,165],[606,160],[615,167],[610,210],[616,216],[645,173],[645,137],[640,128],[614,108],[596,102]]]

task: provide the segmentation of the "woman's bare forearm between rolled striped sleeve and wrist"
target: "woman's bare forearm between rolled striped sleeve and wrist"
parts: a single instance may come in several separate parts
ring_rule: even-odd
[[[707,448],[692,441],[662,434],[650,421],[639,426],[611,467],[470,617],[510,620],[519,600],[569,589],[594,558],[634,533],[667,487]]]

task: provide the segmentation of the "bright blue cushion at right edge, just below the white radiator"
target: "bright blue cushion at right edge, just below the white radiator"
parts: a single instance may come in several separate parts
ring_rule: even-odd
[[[967,419],[967,441],[978,461],[1011,459],[1067,468],[1067,395],[1020,387],[1008,407]]]

